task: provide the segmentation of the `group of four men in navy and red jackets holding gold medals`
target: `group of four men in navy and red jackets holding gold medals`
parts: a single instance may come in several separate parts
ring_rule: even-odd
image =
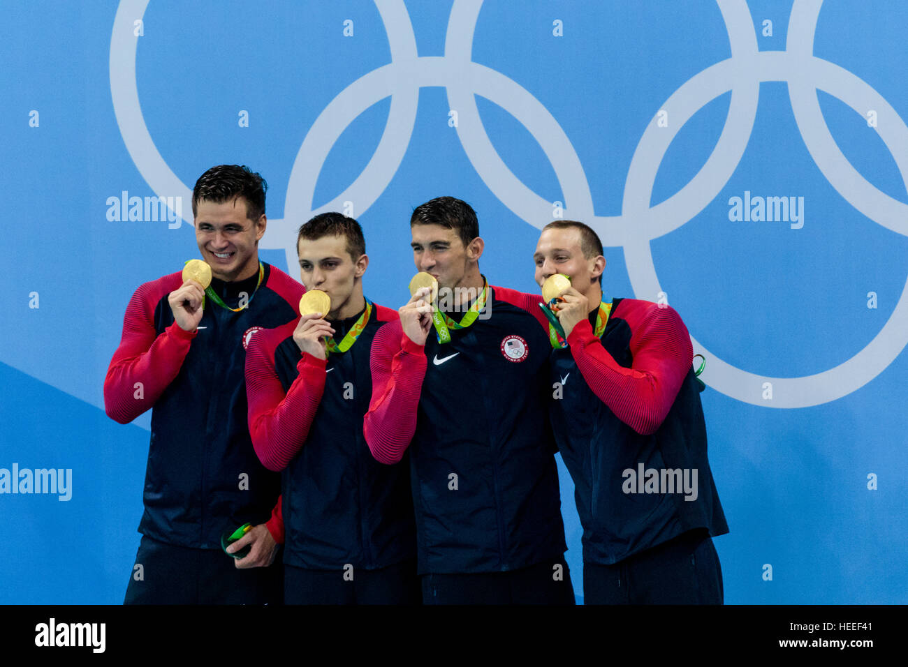
[[[689,336],[674,309],[602,299],[594,231],[542,232],[537,282],[571,281],[543,304],[479,272],[469,204],[428,201],[410,218],[411,248],[437,299],[422,288],[395,313],[363,294],[360,225],[324,213],[297,249],[301,282],[329,312],[300,315],[304,289],[255,252],[263,189],[261,212],[253,201],[243,219],[247,201],[196,185],[206,291],[220,300],[202,309],[202,286],[179,274],[143,285],[105,381],[118,421],[153,407],[136,564],[155,576],[133,576],[127,602],[280,601],[280,566],[255,566],[283,542],[286,603],[414,603],[421,588],[427,604],[572,604],[559,449],[587,603],[722,603],[710,536],[727,526]],[[143,398],[130,398],[136,383]],[[248,486],[234,484],[242,473]],[[254,526],[228,551],[252,553],[234,568],[213,549],[243,522]],[[240,595],[244,575],[262,584]],[[202,582],[192,591],[190,578]]]

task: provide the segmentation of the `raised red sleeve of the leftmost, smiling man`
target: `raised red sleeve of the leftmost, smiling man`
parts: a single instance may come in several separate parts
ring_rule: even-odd
[[[104,378],[104,411],[128,424],[154,403],[180,373],[195,331],[183,331],[176,322],[158,335],[154,309],[171,290],[166,280],[155,280],[135,290],[123,317],[123,337]]]

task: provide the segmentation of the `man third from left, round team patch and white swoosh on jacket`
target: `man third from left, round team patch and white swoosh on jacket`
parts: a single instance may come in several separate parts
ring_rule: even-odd
[[[380,462],[410,454],[423,603],[573,604],[538,297],[479,273],[465,201],[418,206],[410,233],[442,310],[417,290],[376,335],[364,428]]]

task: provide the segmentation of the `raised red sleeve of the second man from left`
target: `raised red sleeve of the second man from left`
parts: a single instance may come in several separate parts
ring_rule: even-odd
[[[287,326],[260,331],[246,350],[249,434],[262,465],[274,471],[287,467],[306,442],[325,390],[328,361],[303,354],[296,365],[299,375],[284,394],[274,368],[275,338],[285,339],[283,334],[292,330]]]

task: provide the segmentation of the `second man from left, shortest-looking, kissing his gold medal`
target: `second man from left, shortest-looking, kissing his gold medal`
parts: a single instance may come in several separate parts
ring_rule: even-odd
[[[409,467],[382,466],[362,435],[372,338],[398,315],[363,296],[357,221],[321,213],[297,250],[331,311],[256,334],[246,358],[252,443],[284,474],[284,603],[418,603]]]

